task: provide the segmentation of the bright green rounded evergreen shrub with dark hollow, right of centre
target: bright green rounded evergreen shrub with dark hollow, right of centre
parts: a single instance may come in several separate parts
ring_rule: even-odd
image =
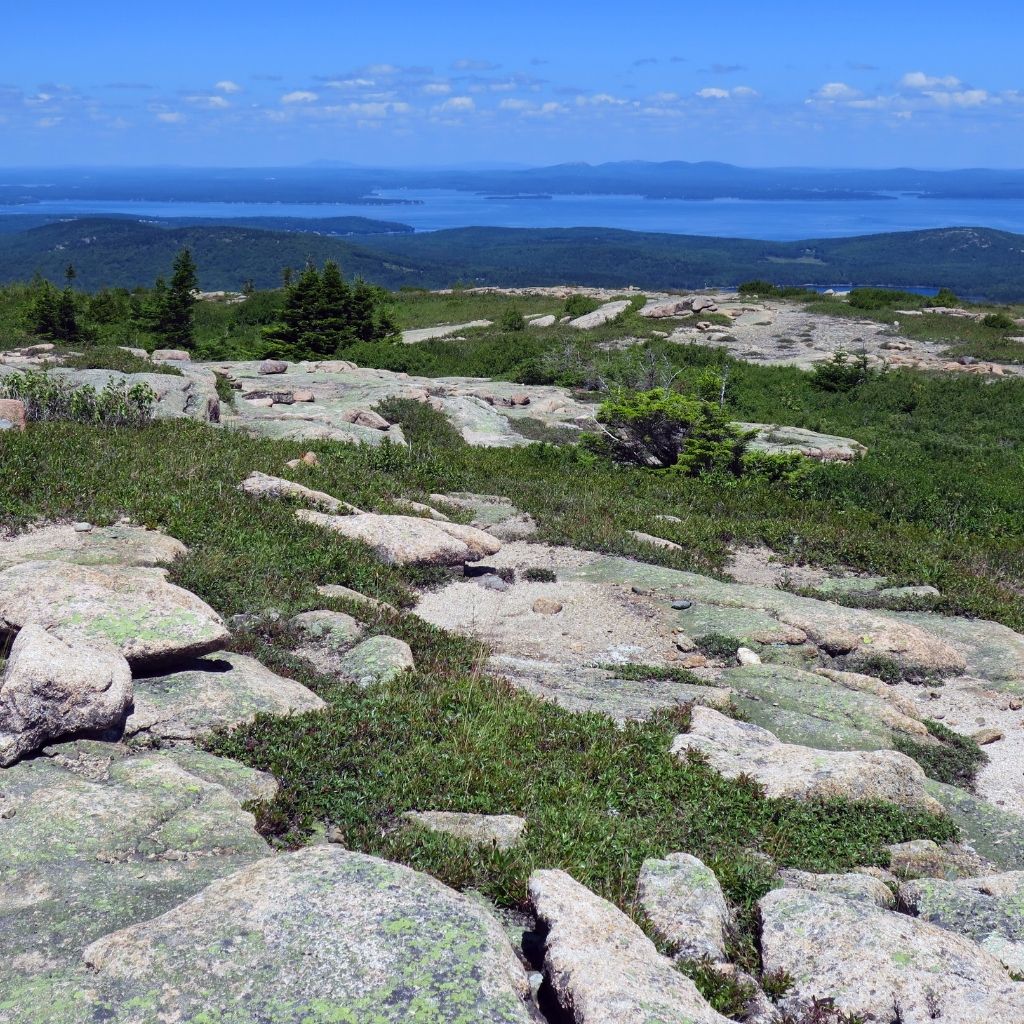
[[[748,435],[710,402],[666,388],[621,391],[597,414],[601,434],[584,443],[614,462],[675,469],[689,476],[742,472]]]

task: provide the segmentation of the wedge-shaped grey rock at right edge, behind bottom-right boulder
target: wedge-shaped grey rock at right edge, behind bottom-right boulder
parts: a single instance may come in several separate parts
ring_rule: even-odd
[[[1024,974],[1024,871],[980,879],[919,879],[899,888],[910,913],[981,944]]]

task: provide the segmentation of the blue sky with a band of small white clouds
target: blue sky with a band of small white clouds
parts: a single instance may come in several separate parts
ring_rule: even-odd
[[[3,166],[1024,166],[1009,0],[5,7]]]

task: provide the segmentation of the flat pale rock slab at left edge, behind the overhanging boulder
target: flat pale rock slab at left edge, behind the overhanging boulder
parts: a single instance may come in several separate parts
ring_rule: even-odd
[[[186,551],[180,541],[142,526],[119,523],[79,530],[68,523],[0,540],[0,569],[49,560],[78,565],[169,565]]]

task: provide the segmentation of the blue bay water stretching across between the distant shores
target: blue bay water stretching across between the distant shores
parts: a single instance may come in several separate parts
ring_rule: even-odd
[[[12,214],[166,217],[373,217],[418,231],[447,227],[612,227],[724,238],[844,238],[931,227],[992,227],[1024,233],[1024,200],[647,200],[641,196],[502,198],[454,189],[382,190],[387,205],[60,200],[0,205]]]

